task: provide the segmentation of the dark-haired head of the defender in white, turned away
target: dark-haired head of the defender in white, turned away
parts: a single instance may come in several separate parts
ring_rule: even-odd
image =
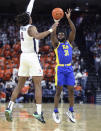
[[[32,24],[32,18],[29,16],[28,13],[24,12],[22,14],[17,15],[16,22],[20,26],[26,26],[28,24]]]

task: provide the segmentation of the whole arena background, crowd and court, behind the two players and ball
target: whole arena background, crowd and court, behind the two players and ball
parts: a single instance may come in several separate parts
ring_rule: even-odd
[[[71,19],[76,26],[73,48],[73,69],[76,79],[74,88],[77,123],[66,121],[64,111],[68,106],[68,91],[65,86],[61,94],[59,111],[63,119],[55,125],[52,119],[55,95],[55,54],[50,35],[39,41],[39,57],[44,71],[43,111],[47,125],[43,126],[32,117],[34,85],[28,79],[16,99],[12,123],[5,120],[4,111],[18,84],[20,50],[19,27],[15,23],[17,14],[24,12],[29,0],[0,0],[0,131],[100,131],[101,130],[101,0],[35,0],[32,12],[33,25],[39,32],[48,30],[53,24],[51,11],[60,7],[72,9]],[[64,17],[59,29],[69,33]],[[19,104],[18,104],[19,103]]]

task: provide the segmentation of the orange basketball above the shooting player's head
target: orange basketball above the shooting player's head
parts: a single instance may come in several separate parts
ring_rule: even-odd
[[[54,8],[52,10],[52,17],[55,20],[59,20],[61,18],[63,18],[64,16],[64,11],[61,8]]]

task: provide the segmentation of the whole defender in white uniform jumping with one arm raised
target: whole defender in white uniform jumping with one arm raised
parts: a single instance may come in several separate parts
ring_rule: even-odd
[[[30,0],[26,12],[17,16],[17,23],[20,25],[20,39],[21,39],[21,56],[20,67],[18,71],[18,87],[16,87],[12,93],[11,100],[5,110],[5,116],[7,121],[12,121],[12,110],[15,99],[18,97],[21,89],[24,87],[25,81],[28,77],[32,77],[35,86],[35,100],[37,112],[33,113],[33,116],[40,122],[45,123],[41,103],[42,103],[42,88],[41,80],[43,76],[43,70],[40,66],[38,55],[34,50],[34,39],[43,39],[52,31],[56,29],[58,24],[53,24],[52,28],[48,31],[39,33],[35,26],[32,26],[31,12],[33,8],[34,0]]]

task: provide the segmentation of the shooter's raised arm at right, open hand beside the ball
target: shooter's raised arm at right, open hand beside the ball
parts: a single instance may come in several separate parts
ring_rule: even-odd
[[[70,16],[71,16],[71,9],[67,9],[67,12],[65,12],[66,14],[66,17],[68,19],[68,23],[70,25],[70,28],[71,28],[71,32],[69,33],[69,42],[71,43],[72,41],[74,41],[75,39],[75,35],[76,35],[76,28],[75,28],[75,25],[73,24]]]

